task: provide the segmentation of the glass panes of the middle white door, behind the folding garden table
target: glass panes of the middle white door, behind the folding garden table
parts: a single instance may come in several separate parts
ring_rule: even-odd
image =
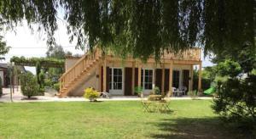
[[[153,69],[142,69],[142,86],[145,90],[153,88]]]

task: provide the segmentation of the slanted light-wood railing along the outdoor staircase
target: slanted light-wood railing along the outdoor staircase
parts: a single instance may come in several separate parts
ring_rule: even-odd
[[[76,80],[79,75],[81,75],[87,68],[90,68],[90,64],[96,59],[102,56],[102,51],[96,48],[92,53],[88,52],[84,54],[82,58],[77,61],[73,67],[67,69],[67,71],[61,75],[60,81],[60,91],[67,87],[72,81]]]

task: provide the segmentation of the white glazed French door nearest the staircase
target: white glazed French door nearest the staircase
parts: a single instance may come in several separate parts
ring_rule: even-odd
[[[109,93],[113,95],[124,94],[124,72],[122,68],[109,68]]]

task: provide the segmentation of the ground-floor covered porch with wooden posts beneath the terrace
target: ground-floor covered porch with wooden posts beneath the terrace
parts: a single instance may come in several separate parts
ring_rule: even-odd
[[[193,88],[193,69],[199,68],[198,88]],[[163,59],[156,64],[148,59],[146,64],[139,60],[106,57],[98,68],[99,90],[114,96],[133,96],[135,87],[142,86],[143,93],[148,95],[155,86],[162,95],[180,96],[176,91],[184,88],[183,95],[189,91],[201,90],[201,61]],[[173,92],[174,91],[174,92]]]

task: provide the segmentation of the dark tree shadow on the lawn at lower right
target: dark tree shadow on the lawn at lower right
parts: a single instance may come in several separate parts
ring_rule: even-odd
[[[160,133],[151,134],[153,138],[232,138],[254,139],[255,136],[238,131],[235,127],[227,126],[218,118],[178,118],[163,119],[158,126]]]

